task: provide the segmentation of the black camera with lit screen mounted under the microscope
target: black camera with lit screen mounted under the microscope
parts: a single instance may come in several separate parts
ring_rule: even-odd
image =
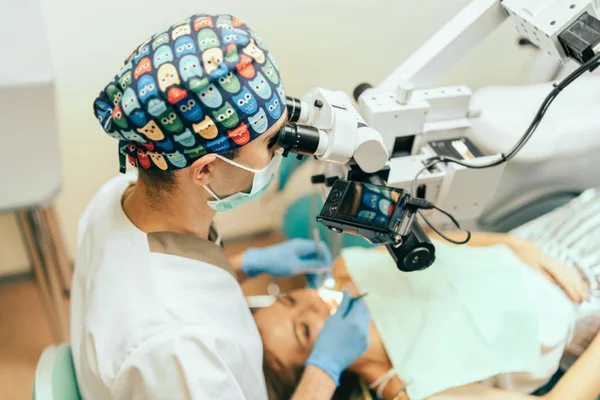
[[[415,221],[426,203],[402,189],[337,180],[317,221],[383,244],[400,270],[419,271],[435,261],[435,248]]]

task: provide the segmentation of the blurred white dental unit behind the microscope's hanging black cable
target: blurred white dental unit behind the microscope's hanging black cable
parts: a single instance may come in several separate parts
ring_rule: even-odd
[[[471,140],[485,153],[505,152],[531,123],[551,83],[487,87],[476,91]],[[478,230],[507,232],[600,186],[600,76],[566,88],[521,152],[505,167]]]

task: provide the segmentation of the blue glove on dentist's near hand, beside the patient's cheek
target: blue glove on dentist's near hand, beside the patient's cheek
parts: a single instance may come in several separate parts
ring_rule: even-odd
[[[369,347],[370,319],[364,300],[344,291],[342,304],[325,322],[306,366],[321,369],[339,385],[342,372]]]

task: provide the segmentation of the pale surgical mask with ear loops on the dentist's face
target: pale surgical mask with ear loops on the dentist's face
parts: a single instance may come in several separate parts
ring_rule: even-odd
[[[275,175],[279,170],[279,166],[281,165],[281,160],[283,150],[278,150],[273,154],[273,158],[263,169],[253,169],[246,167],[245,165],[241,165],[236,163],[235,161],[228,160],[227,158],[216,155],[221,160],[225,161],[228,164],[236,166],[238,168],[244,169],[246,171],[252,172],[254,174],[254,179],[252,180],[252,189],[250,193],[238,192],[234,193],[231,196],[227,196],[223,199],[219,199],[219,197],[210,190],[208,186],[204,186],[204,189],[216,200],[208,201],[207,204],[210,208],[215,211],[228,211],[233,210],[236,207],[241,206],[251,200],[256,200],[259,198],[269,187],[271,182],[275,180]]]

